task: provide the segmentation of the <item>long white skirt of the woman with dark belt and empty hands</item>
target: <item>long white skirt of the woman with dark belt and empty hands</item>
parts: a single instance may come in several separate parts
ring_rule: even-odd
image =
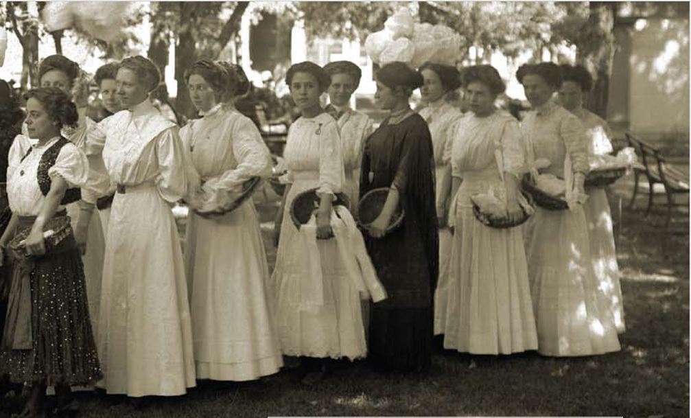
[[[178,230],[153,184],[113,199],[101,290],[99,386],[131,397],[182,395],[195,386]]]

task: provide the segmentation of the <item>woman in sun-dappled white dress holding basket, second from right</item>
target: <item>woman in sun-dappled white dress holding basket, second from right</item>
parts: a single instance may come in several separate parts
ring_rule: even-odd
[[[545,158],[550,165],[540,173],[573,179],[568,191],[574,195],[571,207],[563,211],[536,207],[531,222],[526,254],[538,352],[561,357],[621,350],[612,312],[593,271],[580,205],[588,169],[583,124],[552,100],[561,84],[556,64],[526,64],[518,68],[516,77],[533,106],[522,123],[529,164]]]

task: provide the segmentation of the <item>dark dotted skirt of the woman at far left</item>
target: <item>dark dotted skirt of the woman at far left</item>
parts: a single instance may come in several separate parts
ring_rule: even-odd
[[[35,218],[19,218],[18,230],[30,227]],[[15,260],[12,289],[21,289],[17,281],[30,281],[30,348],[12,348],[11,338],[3,336],[0,347],[0,374],[9,374],[15,383],[89,385],[102,379],[91,330],[86,301],[84,265],[74,236],[65,238],[50,254],[32,258],[22,267]],[[26,289],[26,287],[24,287]],[[13,296],[10,293],[6,334],[10,325]],[[15,310],[27,312],[26,309]],[[24,314],[26,315],[26,314]],[[21,318],[18,322],[21,322]]]

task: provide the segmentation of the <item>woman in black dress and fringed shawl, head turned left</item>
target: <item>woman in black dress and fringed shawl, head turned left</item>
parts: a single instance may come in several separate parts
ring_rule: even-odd
[[[432,138],[425,120],[408,104],[422,75],[401,62],[376,75],[377,104],[389,117],[368,137],[360,196],[388,187],[384,209],[368,227],[365,241],[388,299],[375,303],[370,323],[370,359],[384,370],[430,367],[432,300],[439,272]],[[397,205],[405,218],[386,232]]]

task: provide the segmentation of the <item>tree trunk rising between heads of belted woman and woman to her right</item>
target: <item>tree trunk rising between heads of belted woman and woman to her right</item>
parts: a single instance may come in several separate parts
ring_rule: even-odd
[[[184,79],[186,70],[196,61],[196,42],[191,32],[191,23],[196,21],[194,9],[197,7],[192,2],[181,1],[180,5],[180,30],[178,30],[178,42],[175,47],[175,79],[178,82],[176,95],[176,109],[181,115],[192,117],[194,109],[187,91],[187,80]]]

